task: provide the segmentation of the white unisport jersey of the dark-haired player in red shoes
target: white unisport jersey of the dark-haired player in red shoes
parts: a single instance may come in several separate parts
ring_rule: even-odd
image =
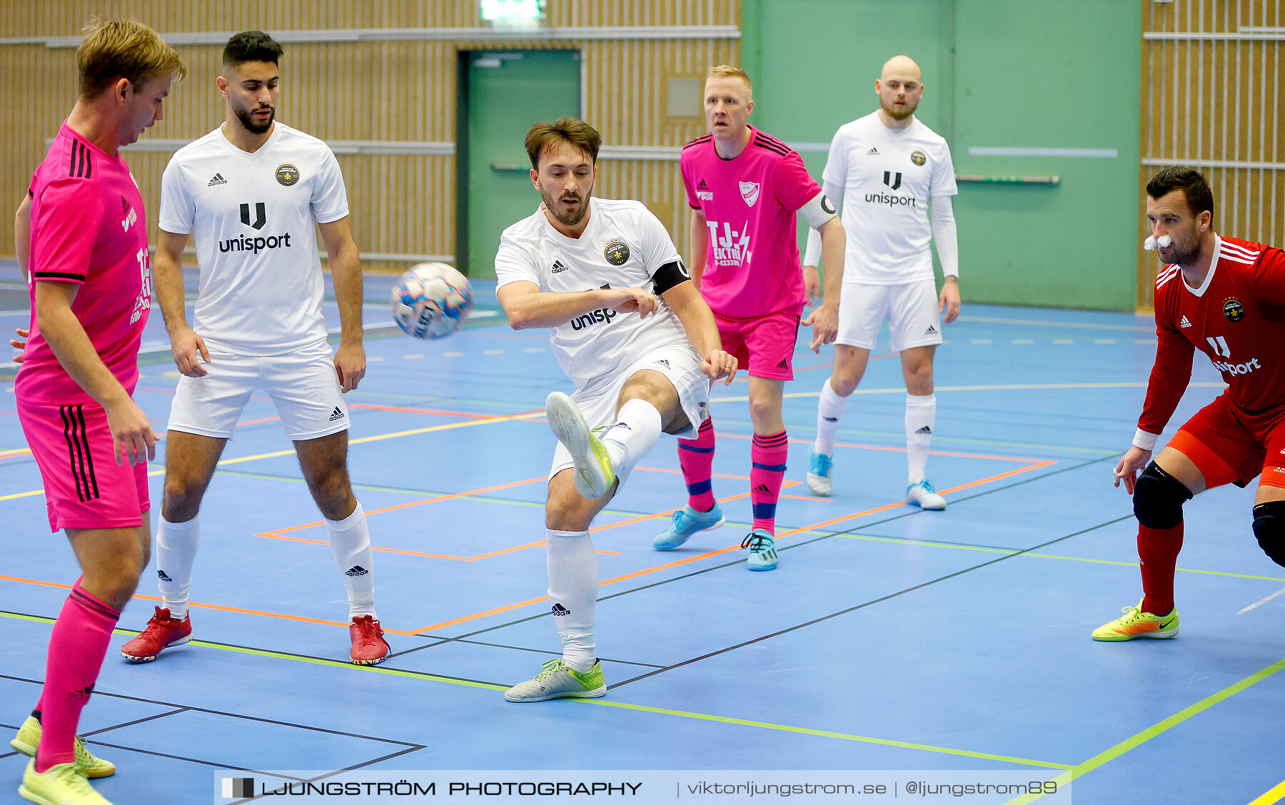
[[[195,239],[193,330],[239,354],[281,354],[325,339],[316,223],[347,214],[329,146],[280,122],[253,154],[221,127],[180,149],[161,180],[159,226]]]

